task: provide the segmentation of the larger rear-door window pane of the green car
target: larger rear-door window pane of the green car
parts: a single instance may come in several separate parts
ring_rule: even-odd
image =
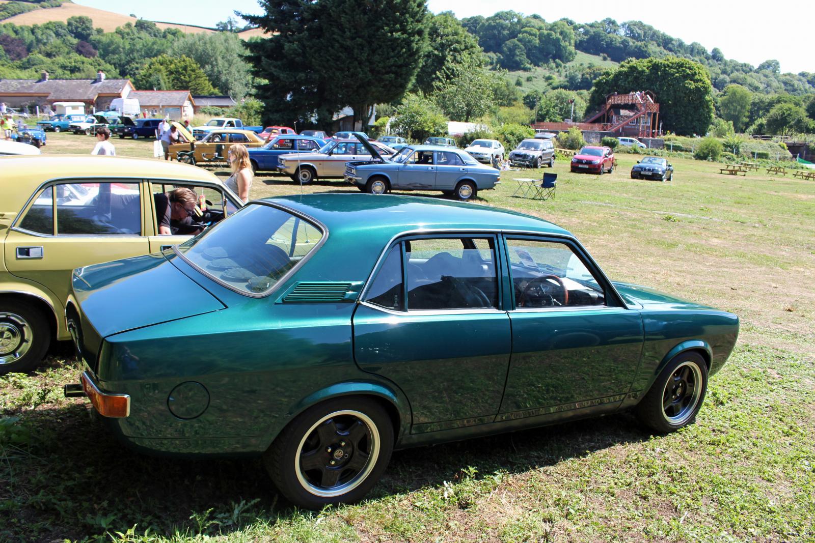
[[[412,239],[404,246],[408,311],[498,307],[493,239]]]

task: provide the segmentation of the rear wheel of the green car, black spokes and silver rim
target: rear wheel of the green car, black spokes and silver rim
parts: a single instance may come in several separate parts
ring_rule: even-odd
[[[263,465],[295,506],[319,510],[363,498],[393,448],[394,430],[381,405],[346,396],[297,415],[263,454]]]

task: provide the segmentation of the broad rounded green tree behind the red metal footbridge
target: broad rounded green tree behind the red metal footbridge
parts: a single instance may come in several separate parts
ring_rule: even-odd
[[[606,95],[653,90],[663,129],[676,134],[707,134],[713,121],[713,86],[702,64],[689,59],[632,59],[597,78],[589,111],[605,103]]]

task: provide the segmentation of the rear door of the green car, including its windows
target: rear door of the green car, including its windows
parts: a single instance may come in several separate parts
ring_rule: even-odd
[[[497,241],[436,234],[394,243],[355,310],[355,360],[403,390],[414,433],[498,413],[511,344]]]

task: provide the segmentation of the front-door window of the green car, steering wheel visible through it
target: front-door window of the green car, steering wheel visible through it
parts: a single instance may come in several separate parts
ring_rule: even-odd
[[[597,278],[566,243],[507,239],[515,304],[519,308],[602,305]]]

